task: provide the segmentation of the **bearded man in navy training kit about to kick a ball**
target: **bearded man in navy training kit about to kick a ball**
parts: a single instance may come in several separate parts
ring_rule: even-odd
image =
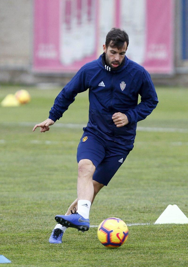
[[[58,224],[50,243],[61,243],[67,227],[83,232],[89,229],[89,209],[96,194],[107,186],[133,149],[137,122],[145,119],[158,103],[148,72],[125,56],[128,44],[127,33],[112,28],[103,45],[104,53],[76,73],[56,97],[49,118],[33,128],[49,131],[77,93],[89,88],[89,121],[77,149],[78,198],[65,215],[56,215]]]

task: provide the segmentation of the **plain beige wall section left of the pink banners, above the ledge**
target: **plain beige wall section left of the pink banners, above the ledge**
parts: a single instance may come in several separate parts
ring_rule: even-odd
[[[32,1],[0,1],[0,66],[28,68],[32,51]]]

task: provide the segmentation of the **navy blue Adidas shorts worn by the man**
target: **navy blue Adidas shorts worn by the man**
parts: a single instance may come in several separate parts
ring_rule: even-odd
[[[84,132],[77,148],[77,162],[90,159],[96,167],[93,180],[107,186],[133,147]]]

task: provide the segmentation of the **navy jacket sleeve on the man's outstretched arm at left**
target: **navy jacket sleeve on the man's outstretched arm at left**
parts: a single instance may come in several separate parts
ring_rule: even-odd
[[[59,120],[69,105],[75,101],[75,96],[88,89],[89,81],[85,70],[86,68],[83,66],[58,94],[49,112],[49,119]]]

